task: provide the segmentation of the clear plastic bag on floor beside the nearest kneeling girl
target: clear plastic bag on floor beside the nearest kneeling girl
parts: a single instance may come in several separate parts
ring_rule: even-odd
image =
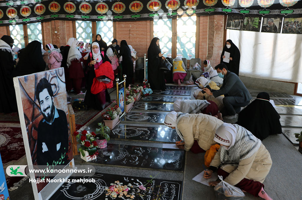
[[[222,176],[218,178],[221,182],[214,187],[216,200],[239,200],[245,197],[241,189],[223,181]]]

